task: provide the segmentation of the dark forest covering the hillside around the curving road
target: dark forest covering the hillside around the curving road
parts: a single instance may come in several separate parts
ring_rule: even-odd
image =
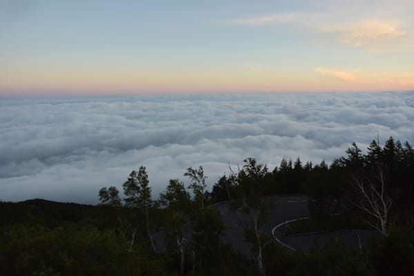
[[[365,152],[365,153],[363,153]],[[414,149],[390,137],[353,143],[331,164],[253,157],[228,166],[209,190],[204,168],[186,168],[155,198],[139,166],[97,206],[44,199],[0,202],[0,275],[414,275]],[[162,172],[159,172],[162,173]],[[113,184],[112,184],[113,185]],[[331,240],[288,250],[264,230],[277,196],[306,195],[300,233],[345,226],[376,233],[355,250]],[[227,206],[246,255],[226,242]],[[236,226],[235,226],[236,227]]]

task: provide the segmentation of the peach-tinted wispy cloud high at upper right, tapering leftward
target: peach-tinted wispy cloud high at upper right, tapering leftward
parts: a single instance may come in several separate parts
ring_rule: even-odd
[[[342,23],[337,23],[337,21]],[[233,19],[223,21],[240,26],[269,26],[269,25],[291,25],[300,26],[299,30],[313,33],[319,37],[328,34],[324,38],[334,39],[339,43],[352,48],[366,48],[367,50],[380,50],[401,39],[408,39],[414,43],[414,36],[404,30],[402,20],[384,19],[382,17],[372,18],[366,14],[362,18],[347,19],[343,16],[333,18],[333,14],[325,12],[286,12],[273,15],[257,17],[246,17],[244,19]],[[409,42],[408,41],[408,42]]]

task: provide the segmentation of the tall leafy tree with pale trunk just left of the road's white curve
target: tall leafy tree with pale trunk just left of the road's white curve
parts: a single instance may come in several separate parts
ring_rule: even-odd
[[[235,188],[235,199],[230,202],[230,209],[244,228],[246,239],[252,242],[253,249],[257,252],[257,268],[260,275],[264,276],[263,248],[268,237],[261,233],[260,227],[267,219],[267,211],[273,206],[272,202],[264,197],[264,179],[268,170],[266,165],[257,164],[254,158],[244,159],[244,162],[246,164],[243,169],[235,175],[238,183]]]

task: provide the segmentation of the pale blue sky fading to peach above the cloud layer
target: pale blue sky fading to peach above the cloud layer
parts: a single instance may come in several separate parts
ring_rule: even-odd
[[[0,96],[414,90],[414,1],[0,0]]]

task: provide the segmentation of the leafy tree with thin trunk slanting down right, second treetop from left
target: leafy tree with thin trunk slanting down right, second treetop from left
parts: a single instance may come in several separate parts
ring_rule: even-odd
[[[146,233],[150,239],[152,251],[155,245],[150,232],[150,208],[152,208],[151,187],[149,186],[148,174],[144,166],[139,167],[138,173],[132,170],[128,180],[122,185],[124,194],[127,196],[126,205],[141,210],[145,218]]]

